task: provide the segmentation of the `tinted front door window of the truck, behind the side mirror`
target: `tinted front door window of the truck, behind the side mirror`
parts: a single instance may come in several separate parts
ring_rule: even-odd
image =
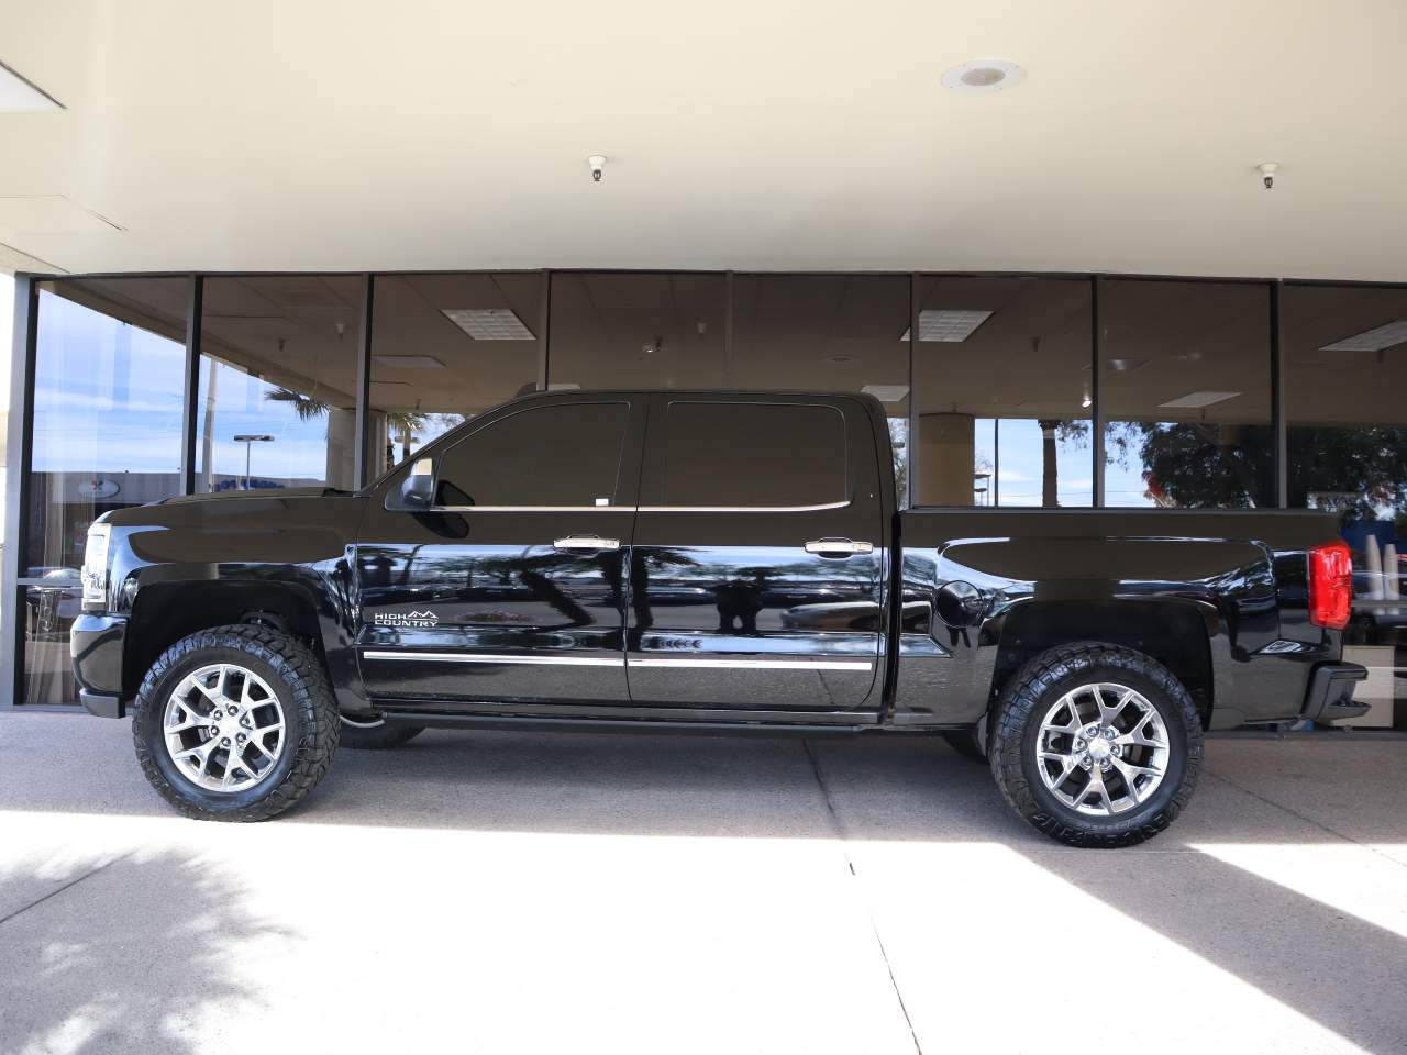
[[[615,505],[629,407],[533,407],[490,422],[439,464],[440,505]]]

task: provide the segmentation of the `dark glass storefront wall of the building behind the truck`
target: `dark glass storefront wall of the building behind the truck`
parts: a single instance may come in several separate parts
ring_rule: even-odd
[[[75,701],[87,526],[355,488],[533,390],[862,391],[912,505],[1323,508],[1403,696],[1407,286],[1090,274],[18,276],[0,650]],[[1396,706],[1397,724],[1407,708]]]

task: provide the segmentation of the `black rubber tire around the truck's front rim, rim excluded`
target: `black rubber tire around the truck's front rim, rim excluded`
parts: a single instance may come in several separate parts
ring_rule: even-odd
[[[187,674],[231,663],[253,671],[283,709],[283,750],[267,775],[245,791],[207,791],[180,771],[166,748],[166,703]],[[136,760],[146,779],[179,813],[197,820],[267,820],[301,800],[322,779],[340,736],[326,671],[301,643],[265,626],[217,626],[186,637],[152,664],[132,710]]]

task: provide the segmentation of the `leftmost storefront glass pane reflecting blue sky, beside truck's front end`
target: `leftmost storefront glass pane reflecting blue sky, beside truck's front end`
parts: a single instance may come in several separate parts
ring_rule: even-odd
[[[24,702],[72,703],[69,627],[89,525],[180,494],[186,279],[39,286],[27,551]]]

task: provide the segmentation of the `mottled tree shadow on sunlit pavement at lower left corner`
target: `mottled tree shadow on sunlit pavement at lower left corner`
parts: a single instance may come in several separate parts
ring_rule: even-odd
[[[211,1025],[238,1044],[238,1025],[260,1014],[239,954],[290,934],[252,916],[218,871],[173,852],[70,861],[58,875],[11,865],[0,885],[30,892],[0,919],[6,1052],[197,1055],[211,1051]],[[243,1040],[259,1047],[256,1034]]]

